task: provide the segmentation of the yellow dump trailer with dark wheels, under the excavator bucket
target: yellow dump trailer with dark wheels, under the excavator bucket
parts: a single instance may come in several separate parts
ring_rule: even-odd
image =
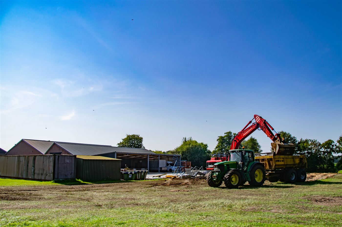
[[[275,155],[256,153],[255,161],[265,166],[266,177],[270,182],[278,180],[294,183],[306,180],[307,161],[305,155]]]

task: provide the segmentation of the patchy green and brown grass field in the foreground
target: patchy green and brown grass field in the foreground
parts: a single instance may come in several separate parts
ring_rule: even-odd
[[[0,179],[0,226],[303,225],[342,226],[342,174],[239,189],[212,188],[202,179],[80,185]]]

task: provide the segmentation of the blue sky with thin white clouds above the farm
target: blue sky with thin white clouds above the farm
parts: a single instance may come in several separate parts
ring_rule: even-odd
[[[1,141],[342,133],[341,1],[1,1]],[[265,151],[271,140],[252,134]]]

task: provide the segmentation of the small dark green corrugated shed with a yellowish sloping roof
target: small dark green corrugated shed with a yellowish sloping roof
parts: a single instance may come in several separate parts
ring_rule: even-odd
[[[120,180],[121,160],[102,156],[76,155],[76,179]]]

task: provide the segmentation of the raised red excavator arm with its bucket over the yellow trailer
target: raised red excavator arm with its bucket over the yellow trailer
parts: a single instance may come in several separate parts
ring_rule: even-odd
[[[255,119],[254,123],[252,123],[253,119]],[[251,123],[252,125],[250,125]],[[248,125],[250,126],[247,127]],[[233,138],[231,150],[239,149],[240,143],[257,129],[264,131],[272,139],[273,143],[271,145],[276,154],[293,154],[294,145],[292,143],[284,143],[279,133],[273,134],[272,130],[275,131],[274,128],[259,115],[254,115],[254,118]]]

